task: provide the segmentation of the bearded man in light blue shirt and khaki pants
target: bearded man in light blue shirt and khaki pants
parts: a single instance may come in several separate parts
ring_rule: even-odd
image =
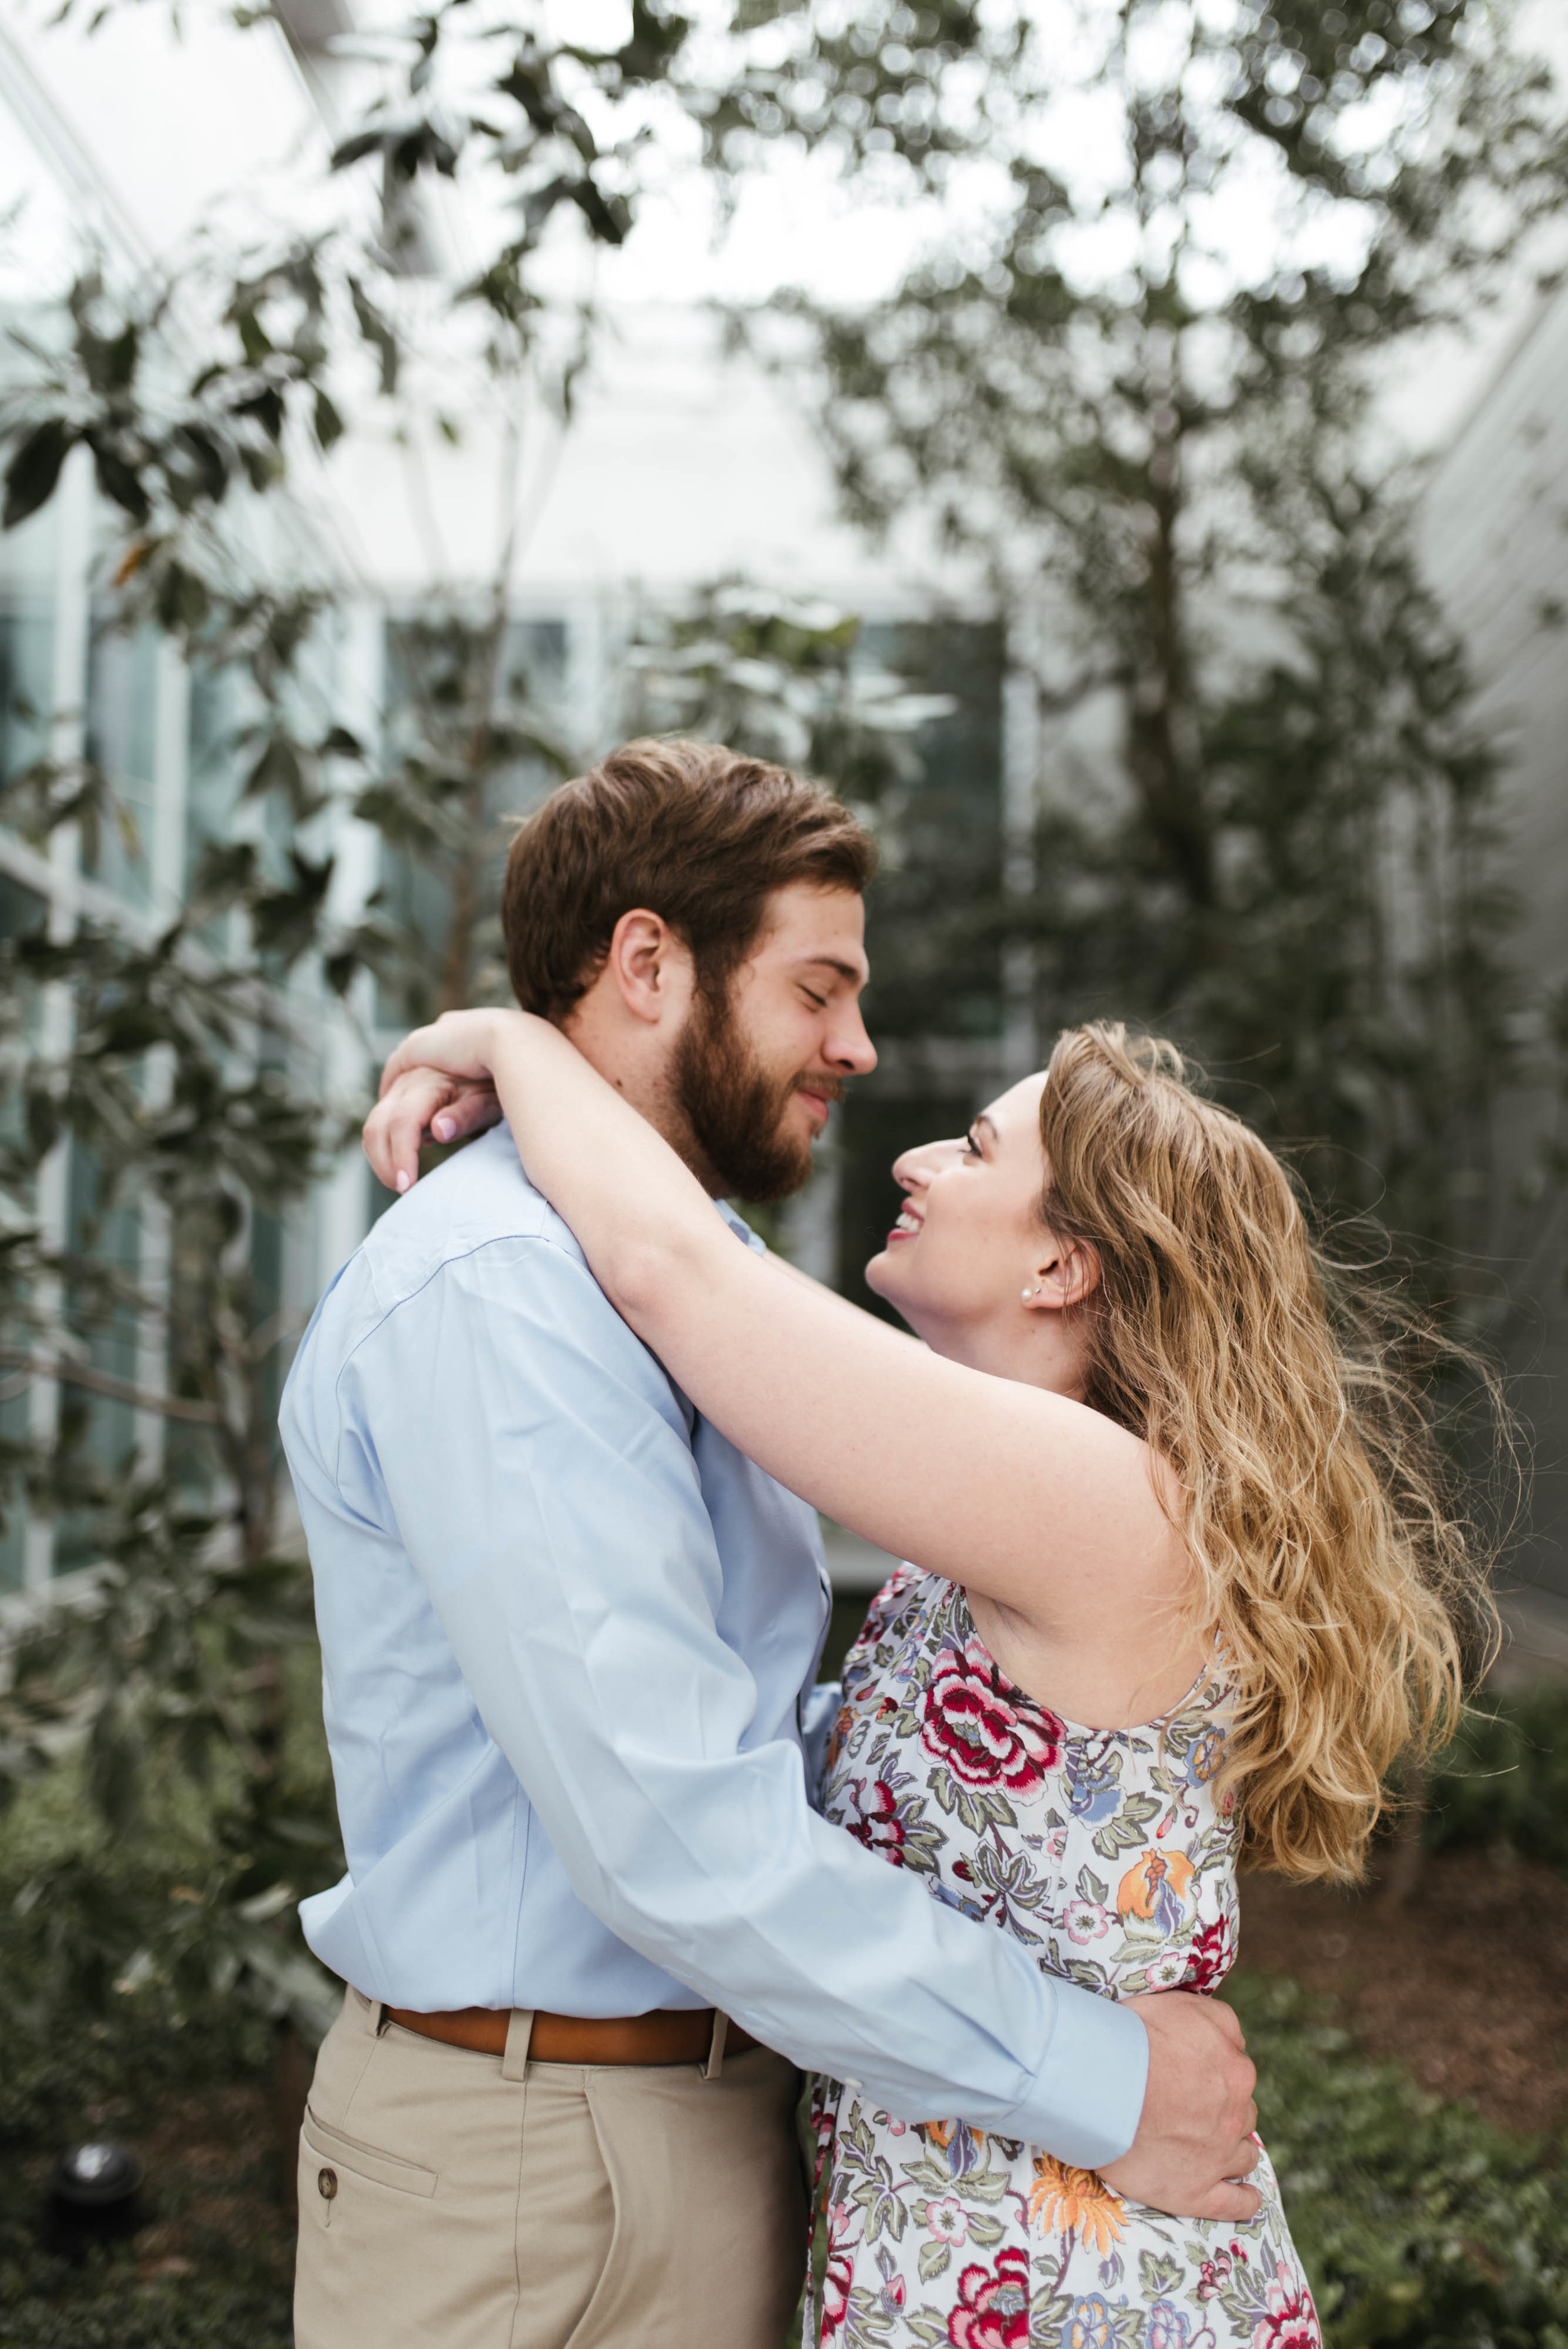
[[[793,775],[627,745],[516,836],[519,1003],[716,1200],[777,1198],[876,1059],[869,874]],[[399,1120],[488,1116],[408,1078],[373,1163]],[[505,1130],[343,1268],[282,1426],[350,1863],[305,1903],[350,1987],[300,2135],[298,2349],[779,2349],[796,2065],[1251,2213],[1223,2008],[1052,1983],[812,1816],[812,1510],[695,1419]]]

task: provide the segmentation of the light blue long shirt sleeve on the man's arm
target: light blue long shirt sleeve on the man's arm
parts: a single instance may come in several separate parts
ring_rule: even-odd
[[[819,1698],[800,1743],[756,1736],[683,1402],[580,1259],[509,1236],[441,1264],[350,1353],[336,1409],[338,1506],[383,1534],[390,1513],[484,1729],[620,1940],[904,2119],[1087,2168],[1129,2147],[1136,2015],[817,1818]]]

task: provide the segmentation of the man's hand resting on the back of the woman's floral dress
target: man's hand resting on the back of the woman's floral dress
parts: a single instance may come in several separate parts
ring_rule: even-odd
[[[1138,2135],[1106,2182],[1171,2217],[1253,2217],[1261,2196],[1244,2180],[1258,2161],[1258,2069],[1232,2008],[1190,1990],[1127,2006],[1148,2030],[1148,2088]]]

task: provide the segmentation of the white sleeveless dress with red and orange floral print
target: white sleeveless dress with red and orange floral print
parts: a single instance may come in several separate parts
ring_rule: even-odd
[[[1237,1886],[1209,1790],[1216,1675],[1141,1729],[1075,1729],[1002,1675],[958,1586],[904,1567],[843,1694],[824,1811],[869,1851],[1108,1999],[1223,1980]],[[815,2121],[807,2349],[1322,2349],[1268,2154],[1258,2217],[1221,2225],[836,2081],[815,2084]]]

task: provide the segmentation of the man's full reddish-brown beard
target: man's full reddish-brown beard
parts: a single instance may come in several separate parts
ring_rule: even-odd
[[[756,1203],[789,1198],[812,1172],[810,1137],[784,1128],[793,1095],[843,1097],[836,1076],[770,1076],[732,1017],[728,994],[697,998],[671,1083],[692,1142],[725,1193]]]

